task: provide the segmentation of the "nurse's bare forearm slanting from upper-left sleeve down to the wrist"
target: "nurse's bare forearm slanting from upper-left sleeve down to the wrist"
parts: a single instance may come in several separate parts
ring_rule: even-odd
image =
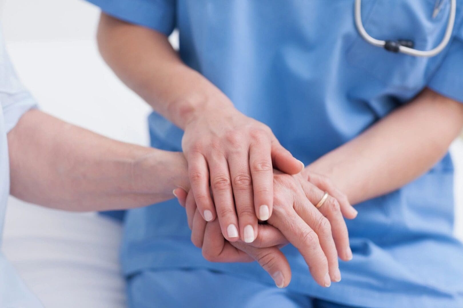
[[[182,129],[196,113],[233,109],[218,88],[181,61],[160,32],[102,13],[98,45],[119,78]]]

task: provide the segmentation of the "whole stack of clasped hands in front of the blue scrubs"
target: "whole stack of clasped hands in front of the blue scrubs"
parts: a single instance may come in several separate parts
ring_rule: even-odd
[[[284,287],[291,271],[279,248],[290,242],[318,284],[339,281],[338,256],[352,258],[343,214],[354,218],[357,211],[326,178],[309,174],[268,126],[214,107],[232,106],[219,101],[184,127],[191,189],[175,194],[186,206],[193,243],[210,261],[257,260]],[[317,209],[325,192],[330,197]]]

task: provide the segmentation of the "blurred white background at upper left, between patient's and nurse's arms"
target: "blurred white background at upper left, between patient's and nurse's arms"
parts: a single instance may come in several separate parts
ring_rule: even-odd
[[[103,63],[99,10],[83,0],[4,0],[8,51],[41,109],[122,141],[148,144],[150,108]]]

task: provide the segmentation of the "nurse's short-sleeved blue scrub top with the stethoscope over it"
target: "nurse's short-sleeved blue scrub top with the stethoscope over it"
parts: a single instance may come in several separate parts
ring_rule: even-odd
[[[463,102],[462,1],[449,46],[432,58],[369,45],[355,28],[354,0],[91,2],[166,35],[177,28],[181,59],[240,111],[269,125],[306,164],[355,138],[426,86]],[[436,18],[435,0],[362,2],[371,36],[411,39],[418,49],[438,45],[450,11],[450,1]],[[155,113],[149,124],[152,146],[181,150],[180,129]],[[357,210],[358,217],[347,222],[354,258],[341,262],[343,280],[318,286],[288,245],[283,249],[293,270],[288,290],[354,306],[463,307],[463,246],[452,237],[449,155],[415,181]],[[273,284],[255,262],[207,262],[189,236],[185,211],[174,200],[129,211],[125,274],[208,268]]]

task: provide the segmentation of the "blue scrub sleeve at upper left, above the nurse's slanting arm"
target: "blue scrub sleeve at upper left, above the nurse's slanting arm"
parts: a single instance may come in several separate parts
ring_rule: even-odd
[[[88,0],[115,18],[169,36],[175,29],[175,0]]]

